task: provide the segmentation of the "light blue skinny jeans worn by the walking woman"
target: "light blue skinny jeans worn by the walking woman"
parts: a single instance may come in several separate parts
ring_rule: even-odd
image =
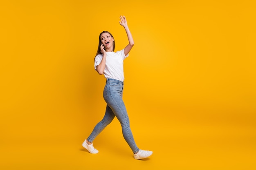
[[[103,97],[107,103],[107,108],[103,119],[94,127],[92,133],[88,137],[88,141],[92,142],[99,133],[117,117],[121,126],[124,139],[132,149],[133,153],[139,151],[135,144],[132,132],[130,130],[130,121],[124,105],[123,97],[124,82],[116,79],[107,79],[104,87]]]

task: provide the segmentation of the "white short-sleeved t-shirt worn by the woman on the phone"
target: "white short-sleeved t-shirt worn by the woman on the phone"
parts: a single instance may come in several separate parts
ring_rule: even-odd
[[[124,82],[124,59],[129,54],[124,55],[124,49],[117,52],[107,52],[104,76],[106,79],[117,79]],[[94,68],[101,63],[103,54],[98,54],[94,60]]]

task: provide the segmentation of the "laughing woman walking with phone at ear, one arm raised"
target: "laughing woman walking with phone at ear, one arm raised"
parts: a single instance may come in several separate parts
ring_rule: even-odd
[[[107,79],[103,91],[103,97],[107,103],[107,108],[103,119],[94,127],[92,133],[85,139],[82,145],[90,153],[98,153],[99,151],[93,147],[92,141],[115,117],[117,117],[121,123],[124,139],[132,149],[134,158],[143,159],[152,155],[153,152],[140,150],[135,144],[130,130],[129,117],[122,99],[124,87],[123,61],[128,57],[134,42],[124,16],[120,16],[119,23],[121,26],[124,26],[129,44],[121,51],[114,52],[115,40],[112,34],[108,31],[103,31],[99,35],[99,46],[96,57],[94,58],[94,68],[100,75],[103,74]]]

